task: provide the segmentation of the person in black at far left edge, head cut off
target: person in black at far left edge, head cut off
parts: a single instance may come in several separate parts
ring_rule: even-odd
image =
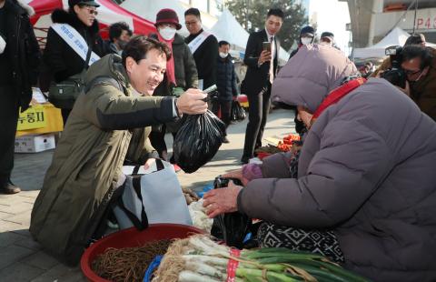
[[[32,99],[40,61],[39,45],[29,21],[32,7],[16,0],[0,0],[0,193],[15,194],[11,183],[14,168],[15,131],[18,111],[25,111]],[[2,48],[3,49],[3,48]]]

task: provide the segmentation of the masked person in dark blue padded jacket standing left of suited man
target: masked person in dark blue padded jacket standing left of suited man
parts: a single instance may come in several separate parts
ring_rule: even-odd
[[[238,96],[238,87],[236,85],[236,72],[232,55],[229,54],[230,43],[220,41],[218,43],[219,58],[216,65],[216,86],[218,87],[218,99],[212,102],[213,114],[218,115],[221,110],[221,119],[225,126],[230,125],[230,113],[232,109],[232,100]],[[224,143],[229,143],[227,137]]]

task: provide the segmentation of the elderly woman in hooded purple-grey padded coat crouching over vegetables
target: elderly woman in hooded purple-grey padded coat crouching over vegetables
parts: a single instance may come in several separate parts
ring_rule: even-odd
[[[244,187],[204,206],[263,219],[263,247],[320,252],[376,281],[436,281],[436,123],[381,78],[324,99],[355,71],[339,50],[302,47],[272,86],[311,126],[298,176],[289,155],[269,156],[225,175]]]

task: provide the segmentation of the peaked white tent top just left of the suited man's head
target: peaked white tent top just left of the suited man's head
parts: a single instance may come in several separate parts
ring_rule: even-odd
[[[218,40],[225,40],[237,46],[238,49],[245,50],[249,34],[229,10],[223,10],[223,14],[218,18],[216,24],[213,25],[211,32]],[[289,54],[283,48],[280,48],[279,59],[282,62],[287,62],[288,58]]]

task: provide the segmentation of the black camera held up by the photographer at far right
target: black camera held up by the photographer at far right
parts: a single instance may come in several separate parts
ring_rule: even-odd
[[[406,73],[401,68],[401,52],[402,47],[398,45],[387,47],[384,50],[384,54],[391,57],[391,68],[388,68],[383,73],[381,73],[380,77],[386,79],[394,86],[400,86],[401,88],[405,88]]]

